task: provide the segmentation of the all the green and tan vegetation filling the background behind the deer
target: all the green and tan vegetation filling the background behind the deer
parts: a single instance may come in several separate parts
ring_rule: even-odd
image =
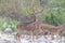
[[[11,27],[16,31],[17,22],[27,20],[34,9],[43,10],[37,14],[41,22],[65,25],[65,0],[0,0],[0,30]]]

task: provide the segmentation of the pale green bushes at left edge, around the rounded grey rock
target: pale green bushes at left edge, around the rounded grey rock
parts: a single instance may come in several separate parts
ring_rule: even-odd
[[[16,24],[17,24],[16,20],[2,19],[2,18],[0,18],[0,31],[1,30],[3,31],[8,27],[12,28],[13,32],[14,31],[17,31]]]

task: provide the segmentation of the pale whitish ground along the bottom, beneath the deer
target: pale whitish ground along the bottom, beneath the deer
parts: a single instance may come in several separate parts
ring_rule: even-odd
[[[14,34],[6,34],[0,32],[0,43],[65,43],[65,38],[60,35],[39,35],[31,38],[31,35],[23,35],[21,42],[15,39]]]

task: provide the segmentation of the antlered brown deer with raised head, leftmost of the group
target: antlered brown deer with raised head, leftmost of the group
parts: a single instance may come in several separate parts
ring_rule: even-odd
[[[43,10],[41,10],[43,11]],[[38,12],[40,13],[40,12]],[[35,34],[35,31],[38,30],[37,27],[39,24],[37,24],[37,19],[36,19],[36,15],[38,14],[35,11],[31,13],[31,22],[28,23],[20,23],[17,24],[16,28],[17,28],[17,33],[16,37],[20,39],[22,34]]]

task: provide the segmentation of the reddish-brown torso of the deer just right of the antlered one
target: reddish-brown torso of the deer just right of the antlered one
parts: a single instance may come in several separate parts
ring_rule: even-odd
[[[50,32],[50,34],[56,34],[57,33],[57,28],[52,25],[47,25],[47,24],[41,24],[41,29],[47,30]]]

